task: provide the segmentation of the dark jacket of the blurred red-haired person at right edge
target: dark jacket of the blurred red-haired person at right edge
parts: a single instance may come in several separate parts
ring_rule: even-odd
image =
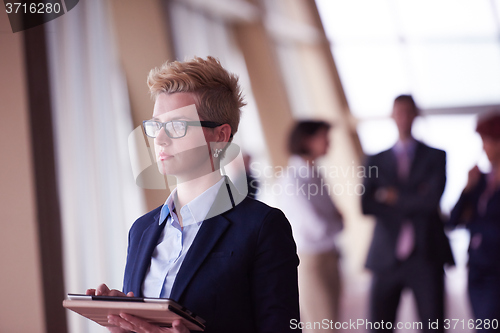
[[[452,225],[465,224],[471,237],[479,236],[480,243],[469,248],[470,269],[480,269],[500,274],[500,190],[488,200],[484,214],[478,212],[479,198],[486,189],[486,175],[468,193],[462,193],[450,214]]]

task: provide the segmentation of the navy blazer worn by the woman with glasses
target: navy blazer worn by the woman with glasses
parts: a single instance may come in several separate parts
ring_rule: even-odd
[[[224,185],[216,202],[228,210],[203,222],[171,298],[205,319],[207,333],[296,332],[290,320],[299,320],[299,262],[288,220],[280,210],[248,197],[232,208]],[[165,225],[158,224],[160,210],[140,217],[130,229],[125,293],[141,296]]]

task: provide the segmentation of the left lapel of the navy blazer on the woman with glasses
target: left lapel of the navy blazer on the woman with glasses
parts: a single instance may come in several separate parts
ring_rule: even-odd
[[[155,215],[153,223],[144,230],[137,248],[138,253],[135,257],[134,270],[130,283],[131,289],[137,297],[142,295],[142,282],[151,264],[151,255],[156,245],[158,245],[158,239],[160,238],[161,232],[165,228],[165,222],[161,225],[158,223],[159,218],[160,213]]]

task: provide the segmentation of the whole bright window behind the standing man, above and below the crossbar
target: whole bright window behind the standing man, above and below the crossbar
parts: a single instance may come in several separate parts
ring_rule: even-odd
[[[500,105],[499,0],[316,0],[366,153],[390,147],[394,97],[411,93],[425,117],[418,139],[448,153],[449,211],[467,170],[488,163],[475,115]]]

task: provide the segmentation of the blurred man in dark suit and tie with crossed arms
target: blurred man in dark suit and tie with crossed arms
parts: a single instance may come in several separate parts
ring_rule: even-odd
[[[413,138],[411,128],[417,116],[413,97],[398,96],[392,118],[399,139],[389,150],[367,160],[369,167],[378,169],[376,177],[365,178],[362,196],[363,213],[376,217],[366,261],[373,273],[370,320],[394,324],[401,292],[409,288],[423,331],[443,332],[443,265],[453,264],[439,214],[446,153]],[[439,329],[429,329],[429,320],[439,320]]]

